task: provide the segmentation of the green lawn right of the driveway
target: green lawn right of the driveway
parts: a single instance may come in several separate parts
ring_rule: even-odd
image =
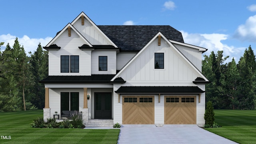
[[[214,110],[220,128],[206,130],[240,144],[256,144],[256,110]]]

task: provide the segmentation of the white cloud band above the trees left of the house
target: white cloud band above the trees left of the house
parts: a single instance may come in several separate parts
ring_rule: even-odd
[[[0,42],[4,42],[4,45],[1,46],[1,51],[4,51],[4,48],[6,47],[7,43],[12,47],[14,45],[14,40],[16,39],[16,36],[12,36],[11,34],[2,34],[0,35]],[[36,51],[36,48],[38,47],[39,42],[41,43],[41,46],[46,46],[50,41],[52,40],[51,37],[46,38],[29,38],[28,36],[24,35],[22,38],[18,37],[18,41],[20,46],[23,45],[24,50],[28,54],[28,52],[34,52]]]

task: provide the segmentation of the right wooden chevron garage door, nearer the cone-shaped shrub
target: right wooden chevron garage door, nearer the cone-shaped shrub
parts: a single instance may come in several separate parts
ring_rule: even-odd
[[[164,124],[196,124],[196,96],[164,96]]]

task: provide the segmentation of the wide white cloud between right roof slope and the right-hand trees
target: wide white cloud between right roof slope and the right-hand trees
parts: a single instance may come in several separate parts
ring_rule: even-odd
[[[188,34],[182,30],[180,32],[185,43],[208,49],[203,55],[209,56],[212,51],[216,54],[219,50],[223,50],[223,56],[229,56],[226,62],[230,62],[233,57],[238,62],[245,50],[245,47],[236,48],[222,43],[222,40],[228,39],[226,34]]]

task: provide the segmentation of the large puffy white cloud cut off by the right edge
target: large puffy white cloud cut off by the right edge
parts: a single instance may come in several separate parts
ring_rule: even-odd
[[[256,39],[256,15],[250,16],[245,24],[241,24],[236,29],[234,38],[242,41],[255,42]]]

